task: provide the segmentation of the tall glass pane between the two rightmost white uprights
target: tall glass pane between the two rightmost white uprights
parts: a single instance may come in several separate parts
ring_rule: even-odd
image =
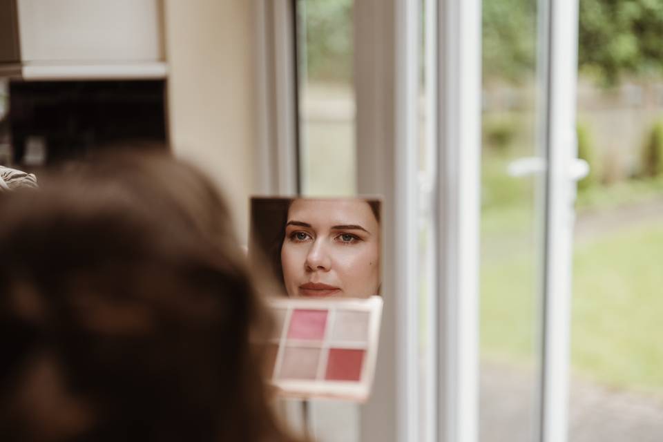
[[[483,1],[480,440],[537,424],[544,162],[537,0]]]

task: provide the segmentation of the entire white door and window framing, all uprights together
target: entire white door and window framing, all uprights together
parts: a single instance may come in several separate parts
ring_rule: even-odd
[[[258,17],[258,189],[298,192],[294,1],[254,0]],[[361,407],[361,441],[478,439],[481,0],[431,0],[428,52],[436,78],[428,108],[438,127],[430,195],[419,201],[416,162],[419,1],[354,0],[354,74],[359,193],[385,197],[385,310],[378,369]],[[541,419],[534,439],[566,441],[570,257],[575,198],[577,0],[541,0],[548,10],[545,144],[546,260]],[[430,32],[430,31],[427,31]],[[430,198],[430,201],[428,200]],[[430,427],[419,427],[417,215],[432,202],[438,297],[432,345]]]

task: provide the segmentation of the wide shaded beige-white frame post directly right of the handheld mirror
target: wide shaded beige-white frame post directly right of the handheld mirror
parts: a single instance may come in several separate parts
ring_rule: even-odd
[[[419,1],[354,2],[358,192],[385,198],[385,307],[361,441],[419,440],[419,17]]]

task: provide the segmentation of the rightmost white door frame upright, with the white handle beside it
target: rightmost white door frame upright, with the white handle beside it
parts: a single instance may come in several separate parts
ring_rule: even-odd
[[[541,369],[541,442],[568,439],[570,311],[577,164],[578,0],[541,1],[547,46],[546,238]],[[546,38],[547,37],[547,38]]]

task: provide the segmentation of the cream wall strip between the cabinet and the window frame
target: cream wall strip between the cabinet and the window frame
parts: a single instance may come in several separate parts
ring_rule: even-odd
[[[164,0],[173,151],[219,184],[244,241],[258,129],[253,4]]]

